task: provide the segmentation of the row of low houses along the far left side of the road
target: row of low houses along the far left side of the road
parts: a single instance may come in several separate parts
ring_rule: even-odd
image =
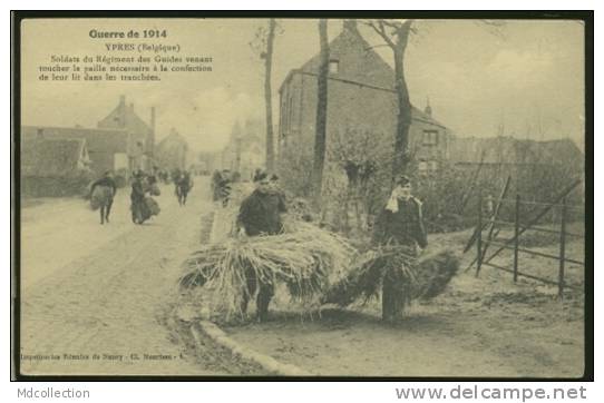
[[[117,106],[95,128],[22,126],[22,194],[78,194],[108,170],[127,178],[136,169],[184,168],[186,140],[171,132],[156,145],[155,119],[155,107],[147,122],[136,114],[134,104],[127,105],[126,97],[120,96]]]

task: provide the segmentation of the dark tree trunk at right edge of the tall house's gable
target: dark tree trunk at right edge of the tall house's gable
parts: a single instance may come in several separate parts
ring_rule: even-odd
[[[394,158],[392,178],[403,174],[409,163],[409,127],[411,126],[411,102],[405,80],[405,51],[409,41],[412,20],[406,21],[397,33],[394,48],[394,90],[397,91],[397,132],[394,136]]]

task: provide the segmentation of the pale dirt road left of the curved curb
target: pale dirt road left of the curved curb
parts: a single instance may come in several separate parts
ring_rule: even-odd
[[[171,187],[159,216],[137,226],[120,190],[111,223],[76,199],[22,210],[21,370],[23,374],[245,373],[207,352],[191,354],[171,309],[179,264],[199,242],[212,209],[206,180],[179,207]],[[168,328],[174,330],[173,332]]]

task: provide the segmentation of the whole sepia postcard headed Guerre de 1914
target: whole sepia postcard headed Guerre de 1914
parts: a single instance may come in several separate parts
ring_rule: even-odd
[[[14,379],[593,379],[592,12],[105,14],[14,22]]]

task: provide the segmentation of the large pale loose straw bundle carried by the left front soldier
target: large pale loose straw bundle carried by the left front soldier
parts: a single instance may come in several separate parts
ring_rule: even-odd
[[[247,279],[285,283],[292,298],[310,308],[314,298],[343,276],[354,249],[342,237],[312,224],[290,224],[291,233],[228,238],[204,245],[184,263],[183,288],[205,285],[218,296],[214,309],[241,314]],[[257,287],[256,287],[257,289]]]

